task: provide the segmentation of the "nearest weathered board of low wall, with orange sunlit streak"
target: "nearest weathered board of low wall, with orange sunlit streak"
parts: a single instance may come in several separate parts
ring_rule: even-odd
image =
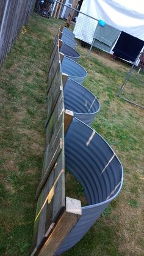
[[[54,227],[55,222],[53,215],[56,214],[57,218],[59,218],[65,208],[65,189],[62,187],[65,183],[64,165],[63,150],[38,197],[38,211],[35,216],[34,225],[34,230],[36,232],[33,236],[31,255],[35,255],[38,248],[45,243],[46,238]],[[59,196],[56,199],[58,192]],[[56,208],[53,208],[54,204],[56,205]]]

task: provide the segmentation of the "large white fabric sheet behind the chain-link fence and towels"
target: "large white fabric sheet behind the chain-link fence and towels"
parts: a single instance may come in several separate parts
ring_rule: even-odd
[[[144,40],[144,0],[84,0],[81,12]],[[79,13],[76,38],[91,44],[97,23]]]

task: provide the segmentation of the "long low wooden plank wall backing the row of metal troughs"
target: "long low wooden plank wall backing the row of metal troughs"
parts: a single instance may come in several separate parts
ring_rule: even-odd
[[[46,148],[41,180],[37,188],[31,256],[52,256],[81,217],[81,201],[65,197],[64,135],[73,112],[64,109],[59,33],[49,61],[48,116]]]

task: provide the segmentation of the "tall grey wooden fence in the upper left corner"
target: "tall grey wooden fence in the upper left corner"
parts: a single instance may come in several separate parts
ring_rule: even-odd
[[[1,0],[0,65],[9,53],[21,27],[26,24],[36,0]]]

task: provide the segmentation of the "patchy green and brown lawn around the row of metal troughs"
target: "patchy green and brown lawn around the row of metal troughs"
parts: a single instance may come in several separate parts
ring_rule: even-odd
[[[64,21],[32,15],[0,68],[0,255],[29,255],[45,149],[49,54],[59,24]],[[87,50],[78,42],[79,63],[88,71],[84,86],[101,103],[92,127],[120,158],[124,184],[87,235],[63,255],[144,255],[144,111],[117,97],[125,65],[95,51],[86,60]],[[83,199],[68,173],[66,182],[68,196]]]

